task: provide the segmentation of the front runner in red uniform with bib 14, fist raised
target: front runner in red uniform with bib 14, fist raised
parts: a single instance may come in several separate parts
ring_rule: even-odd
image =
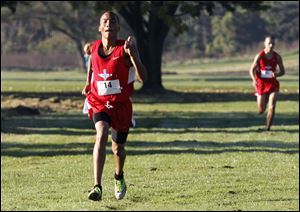
[[[131,96],[134,90],[130,67],[133,66],[140,82],[144,82],[147,77],[133,38],[129,36],[126,41],[117,39],[119,30],[118,16],[110,11],[105,12],[100,18],[101,40],[93,42],[91,68],[82,91],[86,95],[89,114],[97,133],[93,150],[95,181],[88,195],[91,200],[102,198],[102,173],[110,128],[116,162],[115,197],[120,200],[125,196],[125,144],[129,128],[132,126]]]

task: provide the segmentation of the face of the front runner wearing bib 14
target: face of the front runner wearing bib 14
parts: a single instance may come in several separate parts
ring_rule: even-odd
[[[106,39],[116,38],[119,32],[119,23],[114,14],[104,13],[100,19],[99,31]]]

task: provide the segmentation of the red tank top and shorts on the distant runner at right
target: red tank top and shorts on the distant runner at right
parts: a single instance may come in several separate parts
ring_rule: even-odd
[[[279,82],[274,76],[278,65],[278,54],[273,51],[271,58],[267,58],[265,51],[259,53],[259,70],[256,72],[256,94],[270,94],[279,91]]]

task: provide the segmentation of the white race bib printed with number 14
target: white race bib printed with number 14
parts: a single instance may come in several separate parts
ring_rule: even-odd
[[[99,96],[121,93],[120,81],[118,79],[98,81],[97,87]]]

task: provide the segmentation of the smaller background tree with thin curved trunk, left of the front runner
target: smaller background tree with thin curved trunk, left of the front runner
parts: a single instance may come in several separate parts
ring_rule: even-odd
[[[1,7],[9,7],[14,13],[13,16],[5,17],[1,14],[1,19],[3,17],[3,21],[6,22],[21,21],[24,25],[29,23],[29,20],[38,20],[48,28],[48,31],[54,30],[65,34],[75,43],[78,59],[81,60],[83,71],[86,71],[83,46],[87,41],[96,39],[99,23],[99,18],[94,14],[94,3],[87,2],[84,7],[77,10],[73,10],[70,2],[31,2],[30,10],[29,4],[26,5],[26,7],[18,6],[17,1],[11,4],[1,2]]]

